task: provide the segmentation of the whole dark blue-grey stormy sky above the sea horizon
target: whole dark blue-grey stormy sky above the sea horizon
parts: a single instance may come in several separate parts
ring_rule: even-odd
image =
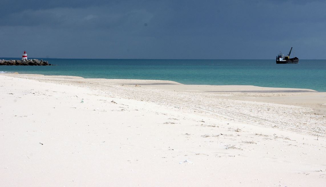
[[[326,0],[1,0],[0,57],[326,59]],[[291,57],[294,57],[292,56]]]

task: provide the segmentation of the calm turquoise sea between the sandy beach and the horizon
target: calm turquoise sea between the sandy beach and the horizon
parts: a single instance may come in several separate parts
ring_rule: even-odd
[[[276,64],[275,60],[43,60],[48,60],[55,66],[0,66],[0,72],[72,75],[84,78],[156,79],[183,84],[254,85],[326,91],[326,60],[300,60],[299,64]]]

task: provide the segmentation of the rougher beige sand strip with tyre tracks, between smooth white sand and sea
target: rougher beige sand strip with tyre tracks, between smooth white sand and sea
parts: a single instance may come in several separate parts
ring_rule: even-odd
[[[101,91],[101,93],[110,91],[110,94],[115,97],[145,100],[183,108],[187,111],[220,115],[243,122],[326,136],[326,107],[323,105],[326,103],[326,93],[311,89],[182,85],[164,80],[79,77],[67,79],[69,76],[9,75],[78,85]],[[265,92],[266,90],[268,92]],[[273,90],[275,92],[272,92]],[[280,90],[286,91],[279,92]]]

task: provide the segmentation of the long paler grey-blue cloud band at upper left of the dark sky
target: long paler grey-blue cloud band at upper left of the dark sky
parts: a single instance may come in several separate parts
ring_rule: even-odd
[[[126,22],[144,22],[150,17],[151,14],[145,10],[119,12],[108,7],[52,8],[7,14],[0,20],[0,25],[98,29],[116,27]]]

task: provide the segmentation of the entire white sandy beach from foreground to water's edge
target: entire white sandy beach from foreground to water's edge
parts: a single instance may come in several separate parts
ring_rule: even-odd
[[[326,93],[0,74],[3,186],[325,186]]]

